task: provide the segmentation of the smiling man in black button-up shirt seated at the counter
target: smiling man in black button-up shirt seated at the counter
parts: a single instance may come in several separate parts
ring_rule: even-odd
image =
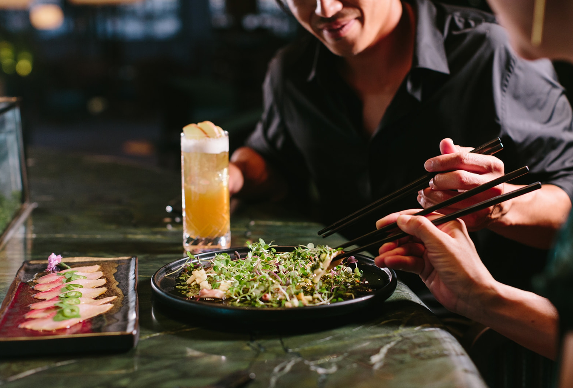
[[[480,229],[472,237],[492,275],[528,289],[573,197],[572,113],[551,63],[517,58],[504,30],[480,11],[429,0],[349,3],[288,1],[314,37],[270,63],[261,122],[231,157],[231,194],[270,195],[282,183],[291,194],[306,193],[309,181],[329,223],[413,181],[424,167],[456,170],[420,193],[429,206],[449,190],[527,165],[531,173],[516,183],[539,180],[541,190],[465,221]],[[495,136],[505,146],[499,158],[441,142],[478,146]],[[438,144],[445,155],[432,158]],[[416,199],[344,236],[374,229],[376,218],[416,207]]]

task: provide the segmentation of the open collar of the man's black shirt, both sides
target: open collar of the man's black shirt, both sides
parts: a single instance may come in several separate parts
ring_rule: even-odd
[[[410,0],[416,14],[416,37],[414,41],[414,54],[412,58],[412,69],[421,68],[434,70],[435,72],[448,75],[448,57],[444,47],[444,31],[438,28],[438,15],[435,5],[429,0]],[[439,23],[444,25],[444,22]],[[328,53],[320,54],[321,51]],[[320,66],[319,57],[332,54],[317,41],[311,71],[308,73],[307,81],[315,79]],[[333,54],[332,54],[333,55]]]

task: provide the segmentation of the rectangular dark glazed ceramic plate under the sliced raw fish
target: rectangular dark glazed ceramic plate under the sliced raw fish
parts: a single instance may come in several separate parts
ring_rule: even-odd
[[[40,355],[95,351],[126,351],[139,338],[137,257],[65,257],[69,266],[99,264],[107,279],[107,291],[99,296],[117,296],[107,313],[87,319],[68,329],[34,331],[18,328],[30,311],[34,291],[30,280],[46,270],[47,260],[25,261],[18,270],[0,308],[0,355]],[[33,283],[32,283],[33,285]]]

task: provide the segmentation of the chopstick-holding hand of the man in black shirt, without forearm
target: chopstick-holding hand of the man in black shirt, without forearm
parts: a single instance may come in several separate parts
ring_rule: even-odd
[[[418,202],[424,208],[435,205],[454,197],[456,191],[473,189],[482,183],[501,177],[504,174],[504,164],[500,159],[490,155],[470,154],[473,148],[456,146],[452,139],[444,139],[439,143],[441,156],[428,159],[424,164],[427,171],[451,171],[438,174],[431,179],[430,187],[418,192]],[[453,213],[475,203],[503,194],[505,184],[493,187],[484,193],[474,195],[465,201],[454,203],[441,209],[444,214]],[[487,227],[504,214],[502,205],[488,207],[462,218],[469,230]]]

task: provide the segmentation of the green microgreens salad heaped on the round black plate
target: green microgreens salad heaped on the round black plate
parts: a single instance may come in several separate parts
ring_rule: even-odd
[[[293,252],[277,252],[275,246],[261,239],[248,245],[246,257],[231,260],[221,253],[209,260],[209,268],[186,262],[176,288],[189,298],[224,300],[242,307],[315,306],[372,291],[361,280],[362,272],[349,266],[356,262],[354,257],[331,265],[341,250],[308,244]]]

